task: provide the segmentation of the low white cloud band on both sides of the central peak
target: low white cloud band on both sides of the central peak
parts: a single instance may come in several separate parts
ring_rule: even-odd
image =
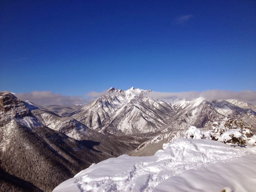
[[[33,91],[30,93],[18,93],[15,94],[20,100],[29,100],[34,104],[38,105],[74,105],[80,103],[86,103],[93,101],[102,95],[111,94],[107,90],[102,92],[89,92],[86,94],[87,99],[81,96],[68,96],[61,95],[58,93],[53,93],[51,91]],[[115,93],[116,94],[116,93]],[[148,97],[151,98],[161,98],[161,99],[195,99],[198,97],[203,97],[209,100],[226,100],[226,99],[236,99],[239,101],[244,101],[256,105],[256,92],[245,90],[245,91],[226,91],[226,90],[207,90],[207,91],[187,91],[187,92],[146,92]]]

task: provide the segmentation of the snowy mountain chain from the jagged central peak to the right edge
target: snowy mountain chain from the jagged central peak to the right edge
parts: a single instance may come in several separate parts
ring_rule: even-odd
[[[93,130],[114,135],[156,134],[187,129],[190,125],[203,128],[226,116],[256,125],[256,113],[250,104],[246,108],[245,104],[240,107],[230,103],[231,100],[150,98],[148,92],[151,90],[132,87],[124,91],[112,87],[106,95],[68,116]]]

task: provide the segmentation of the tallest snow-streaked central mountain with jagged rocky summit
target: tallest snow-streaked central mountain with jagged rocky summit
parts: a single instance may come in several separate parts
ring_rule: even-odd
[[[134,135],[161,130],[173,120],[170,105],[147,97],[151,90],[123,91],[110,88],[103,95],[69,117],[84,123],[89,128],[115,135]]]

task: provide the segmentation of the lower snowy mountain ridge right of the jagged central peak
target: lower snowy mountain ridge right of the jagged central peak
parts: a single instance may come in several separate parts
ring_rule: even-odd
[[[130,153],[131,155],[152,155],[154,153],[152,149],[158,150],[163,143],[182,137],[190,125],[209,129],[212,122],[221,122],[226,116],[242,119],[246,125],[252,125],[253,132],[256,132],[256,112],[252,109],[240,108],[225,100],[208,101],[197,98],[188,101],[178,99],[177,102],[172,101],[172,106],[176,110],[176,119],[169,123],[161,133],[142,143],[134,152]]]

